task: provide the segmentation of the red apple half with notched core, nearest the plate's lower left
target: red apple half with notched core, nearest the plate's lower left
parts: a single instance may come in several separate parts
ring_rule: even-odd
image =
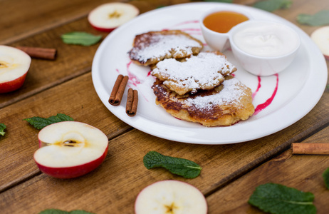
[[[55,178],[85,175],[102,163],[108,153],[108,137],[85,123],[53,123],[38,133],[34,161],[43,173]]]

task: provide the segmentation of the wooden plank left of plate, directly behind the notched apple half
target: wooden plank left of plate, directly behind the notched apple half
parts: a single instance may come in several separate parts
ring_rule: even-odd
[[[93,88],[90,73],[2,108],[1,123],[7,128],[6,135],[0,138],[0,191],[38,173],[33,161],[33,153],[38,148],[38,130],[23,119],[33,116],[47,118],[57,113],[65,113],[75,121],[95,126],[108,138],[130,129],[103,106]]]

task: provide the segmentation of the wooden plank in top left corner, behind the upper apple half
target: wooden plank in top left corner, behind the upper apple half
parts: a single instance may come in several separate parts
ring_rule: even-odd
[[[0,44],[11,44],[69,21],[80,19],[105,0],[1,1]]]

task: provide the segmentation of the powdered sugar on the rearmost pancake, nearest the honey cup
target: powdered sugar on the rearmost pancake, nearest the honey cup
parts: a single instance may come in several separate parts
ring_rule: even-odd
[[[202,48],[202,45],[184,35],[155,34],[150,38],[150,35],[144,34],[140,37],[139,46],[132,49],[131,54],[136,60],[146,62],[155,58],[161,60],[172,53],[173,57],[183,54],[189,56],[193,54],[192,47]]]

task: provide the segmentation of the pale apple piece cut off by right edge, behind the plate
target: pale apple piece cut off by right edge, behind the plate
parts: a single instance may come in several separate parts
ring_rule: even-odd
[[[313,31],[310,38],[320,49],[321,53],[329,60],[329,26],[323,26]]]

